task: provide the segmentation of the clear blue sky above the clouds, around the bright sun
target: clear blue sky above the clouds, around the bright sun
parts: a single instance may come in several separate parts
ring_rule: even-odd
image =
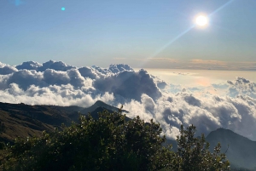
[[[2,0],[0,61],[252,69],[256,66],[254,9],[254,0]],[[163,48],[193,26],[201,13],[212,14],[207,28],[193,28]]]

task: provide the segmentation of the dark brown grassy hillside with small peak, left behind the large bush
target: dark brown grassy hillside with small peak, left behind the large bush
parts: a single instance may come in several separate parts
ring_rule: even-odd
[[[88,108],[79,106],[57,105],[25,105],[0,103],[0,141],[13,142],[18,136],[40,136],[42,131],[53,131],[61,128],[61,123],[69,126],[77,122],[81,114],[91,113],[97,117],[97,112],[107,109],[117,111],[118,108],[96,101]],[[127,117],[128,118],[128,117]]]

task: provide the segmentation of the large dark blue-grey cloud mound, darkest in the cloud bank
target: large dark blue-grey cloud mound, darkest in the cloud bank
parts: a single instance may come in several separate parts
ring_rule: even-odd
[[[119,94],[131,100],[141,100],[142,94],[147,94],[154,100],[161,96],[153,78],[144,70],[121,71],[109,77],[96,79],[93,86],[103,92]]]

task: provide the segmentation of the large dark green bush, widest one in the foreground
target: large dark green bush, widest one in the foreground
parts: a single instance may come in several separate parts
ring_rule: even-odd
[[[102,111],[99,119],[79,118],[40,138],[18,138],[9,146],[3,170],[155,170],[174,154],[162,147],[159,123],[140,117],[128,122],[121,112]],[[163,154],[163,155],[162,155]],[[163,159],[163,160],[161,160]]]

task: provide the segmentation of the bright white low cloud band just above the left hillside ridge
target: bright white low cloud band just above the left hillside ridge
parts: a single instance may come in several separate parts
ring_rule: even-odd
[[[23,102],[30,105],[79,105],[84,107],[93,105],[96,100],[103,100],[106,103],[111,103],[114,100],[113,94],[104,93],[93,96],[70,84],[54,85],[47,88],[32,85],[23,90],[15,83],[10,84],[6,90],[0,90],[0,98],[2,102],[7,103]]]

